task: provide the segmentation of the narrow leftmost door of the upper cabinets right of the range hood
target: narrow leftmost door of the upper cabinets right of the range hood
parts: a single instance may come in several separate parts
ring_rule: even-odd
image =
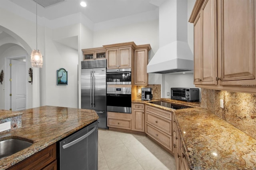
[[[198,13],[194,22],[194,84],[202,82],[202,24],[201,13]]]

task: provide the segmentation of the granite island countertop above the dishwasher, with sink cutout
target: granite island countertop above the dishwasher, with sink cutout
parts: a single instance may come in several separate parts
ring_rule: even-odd
[[[3,115],[6,111],[0,112]],[[21,138],[33,144],[0,160],[0,170],[17,164],[98,119],[94,110],[55,106],[42,106],[20,112],[23,113],[22,127],[0,133],[0,141],[8,138]]]

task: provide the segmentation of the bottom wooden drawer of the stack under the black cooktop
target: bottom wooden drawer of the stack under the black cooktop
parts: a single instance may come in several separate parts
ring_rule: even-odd
[[[172,151],[172,136],[152,127],[146,123],[146,134],[163,144],[168,150]]]

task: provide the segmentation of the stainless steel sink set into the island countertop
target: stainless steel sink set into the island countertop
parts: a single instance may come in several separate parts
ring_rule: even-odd
[[[0,160],[10,156],[20,150],[28,148],[33,142],[11,138],[0,141]]]

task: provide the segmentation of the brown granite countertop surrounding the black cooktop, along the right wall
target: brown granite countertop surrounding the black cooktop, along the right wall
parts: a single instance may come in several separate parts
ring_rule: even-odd
[[[256,170],[256,139],[210,111],[202,109],[199,102],[168,98],[161,101],[191,108],[174,110],[139,99],[133,103],[145,103],[174,113],[190,169]]]

